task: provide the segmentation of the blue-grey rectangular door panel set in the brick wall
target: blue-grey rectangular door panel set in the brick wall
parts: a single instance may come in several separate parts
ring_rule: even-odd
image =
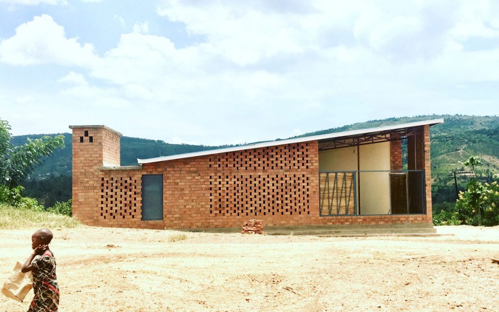
[[[142,175],[142,220],[163,220],[163,175]]]

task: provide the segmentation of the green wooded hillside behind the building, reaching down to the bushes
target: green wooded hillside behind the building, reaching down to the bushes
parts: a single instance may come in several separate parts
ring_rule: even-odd
[[[499,173],[499,117],[495,116],[431,115],[388,118],[315,131],[301,136],[372,128],[434,118],[445,118],[445,123],[432,127],[431,132],[434,203],[455,201],[456,192],[452,172],[464,170],[462,163],[471,155],[478,155],[482,159],[483,165],[478,168],[478,172],[484,176],[484,179],[491,180],[494,175],[497,177]],[[53,184],[46,180],[55,179],[57,180],[56,183],[54,182],[57,184],[55,189],[59,192],[59,198],[62,200],[64,197],[70,196],[68,195],[70,194],[70,186],[64,187],[64,185],[68,184],[68,180],[61,177],[56,178],[71,175],[71,134],[63,134],[66,148],[43,160],[43,164],[25,184],[27,193],[40,198],[43,193],[50,190],[51,184]],[[53,136],[55,134],[49,135]],[[20,145],[26,141],[27,137],[33,139],[41,136],[41,134],[15,136],[12,143]],[[124,166],[137,164],[137,158],[167,156],[220,147],[226,146],[170,144],[163,141],[122,137],[121,164]],[[458,175],[458,179],[462,188],[467,181],[467,177]],[[33,180],[43,180],[45,182],[33,182]],[[67,188],[67,190],[63,192],[61,187],[63,189]],[[61,192],[65,195],[61,195]]]

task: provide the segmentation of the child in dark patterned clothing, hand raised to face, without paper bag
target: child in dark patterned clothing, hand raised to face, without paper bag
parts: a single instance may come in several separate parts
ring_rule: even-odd
[[[55,275],[55,258],[48,244],[52,232],[41,229],[31,236],[33,252],[28,257],[21,272],[32,271],[34,297],[28,312],[57,312],[59,307],[59,287]]]

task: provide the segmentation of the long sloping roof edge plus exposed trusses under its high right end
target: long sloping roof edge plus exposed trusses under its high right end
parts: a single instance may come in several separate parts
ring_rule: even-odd
[[[371,138],[372,142],[375,143],[374,140],[376,138],[383,138],[385,136],[384,138],[386,140],[386,134],[388,133],[398,133],[400,138],[403,137],[404,133],[406,132],[407,133],[405,135],[410,135],[412,131],[414,131],[414,128],[416,127],[425,126],[425,125],[433,126],[443,122],[444,122],[443,118],[423,120],[423,121],[409,122],[404,124],[396,124],[396,125],[343,131],[343,132],[334,132],[334,133],[305,136],[305,137],[286,139],[286,140],[268,141],[256,144],[241,145],[236,147],[220,148],[220,149],[206,150],[193,153],[177,154],[177,155],[162,156],[162,157],[147,158],[147,159],[137,159],[137,161],[139,164],[148,164],[148,163],[155,163],[155,162],[182,159],[182,158],[191,158],[191,157],[199,157],[199,156],[206,156],[206,155],[213,155],[220,153],[237,152],[247,149],[262,148],[268,146],[278,146],[278,145],[301,143],[308,141],[319,141],[319,143],[321,143],[321,142],[335,141],[335,139],[340,140],[340,139],[354,138],[359,136],[366,137],[365,139],[369,140],[368,136],[369,134],[372,136]],[[339,147],[344,147],[344,146],[330,147],[330,148],[339,148]]]

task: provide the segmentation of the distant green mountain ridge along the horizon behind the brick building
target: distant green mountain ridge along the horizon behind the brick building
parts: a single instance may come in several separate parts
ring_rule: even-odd
[[[432,176],[434,178],[448,175],[450,171],[461,168],[462,162],[471,155],[479,155],[483,159],[483,168],[490,169],[494,174],[499,172],[499,117],[495,116],[423,115],[388,118],[309,132],[296,137],[373,128],[436,118],[444,118],[445,122],[431,128]],[[66,147],[56,151],[51,157],[43,159],[43,164],[33,172],[31,175],[32,178],[71,174],[71,134],[62,134],[64,134],[65,137],[64,143]],[[20,145],[26,142],[28,137],[35,139],[43,135],[45,134],[14,136],[12,144]],[[54,136],[56,134],[47,135]],[[121,165],[127,166],[137,164],[137,158],[153,158],[229,146],[236,145],[206,146],[171,144],[161,140],[124,136],[121,138]]]

